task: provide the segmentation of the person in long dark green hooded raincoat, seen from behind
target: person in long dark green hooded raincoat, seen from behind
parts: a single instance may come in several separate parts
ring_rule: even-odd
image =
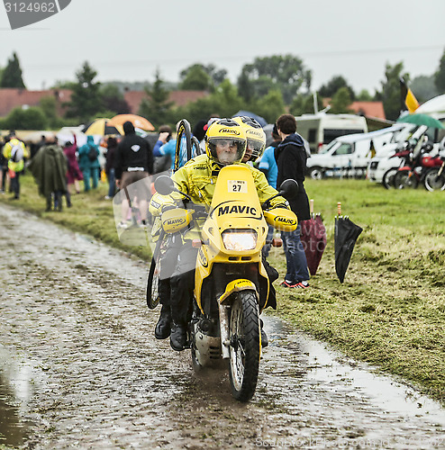
[[[67,193],[66,174],[67,157],[57,140],[40,148],[32,158],[29,170],[39,188],[39,193],[46,198],[46,210],[51,211],[52,198],[54,208],[62,210],[62,193]]]

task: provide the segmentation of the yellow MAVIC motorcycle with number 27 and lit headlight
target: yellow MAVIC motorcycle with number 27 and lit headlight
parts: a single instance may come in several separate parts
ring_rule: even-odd
[[[155,185],[164,195],[178,192],[168,176],[159,176]],[[295,180],[286,180],[277,195],[290,199],[296,193]],[[297,226],[294,212],[286,208],[268,211],[268,202],[260,204],[249,167],[223,167],[201,238],[193,242],[199,248],[188,330],[192,362],[198,371],[229,360],[232,395],[239,401],[251,399],[259,374],[259,314],[268,305],[269,294],[261,248],[266,244],[268,224],[285,231]],[[176,211],[177,223],[190,222],[180,220],[185,212]]]

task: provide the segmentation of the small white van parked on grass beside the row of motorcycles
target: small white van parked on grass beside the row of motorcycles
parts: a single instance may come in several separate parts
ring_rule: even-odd
[[[368,163],[374,156],[371,141],[378,152],[391,141],[396,132],[405,127],[406,124],[399,123],[383,130],[333,139],[321,153],[307,159],[307,175],[313,179],[335,174],[364,176]]]

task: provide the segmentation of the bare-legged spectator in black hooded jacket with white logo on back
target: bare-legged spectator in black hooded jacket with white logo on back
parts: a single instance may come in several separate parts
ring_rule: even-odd
[[[114,173],[116,176],[116,185],[125,190],[132,183],[143,180],[138,186],[138,193],[141,198],[139,209],[141,211],[141,221],[145,225],[148,216],[148,201],[150,199],[150,175],[153,173],[153,154],[150,144],[141,136],[136,135],[131,121],[123,124],[124,138],[116,149],[114,160]],[[127,191],[125,191],[127,194]],[[126,196],[126,195],[125,195]],[[121,204],[122,220],[120,226],[126,228],[126,218],[130,208],[128,200],[125,198]]]

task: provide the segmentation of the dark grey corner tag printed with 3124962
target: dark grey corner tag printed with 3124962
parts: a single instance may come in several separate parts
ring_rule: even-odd
[[[4,0],[11,30],[48,19],[70,3],[71,0]]]

